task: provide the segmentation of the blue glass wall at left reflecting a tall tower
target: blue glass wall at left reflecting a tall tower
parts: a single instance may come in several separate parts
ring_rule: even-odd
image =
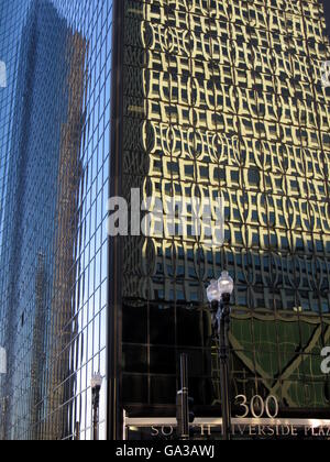
[[[90,439],[90,378],[106,375],[112,0],[1,1],[0,22],[1,438]]]

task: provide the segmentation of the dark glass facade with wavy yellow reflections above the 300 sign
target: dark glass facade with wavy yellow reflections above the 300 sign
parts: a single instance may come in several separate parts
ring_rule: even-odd
[[[204,307],[207,282],[223,268],[235,280],[233,393],[273,394],[282,409],[329,407],[320,371],[330,339],[321,2],[127,0],[124,29],[128,197],[131,187],[163,202],[221,193],[226,204],[221,249],[166,229],[163,239],[127,240],[127,407],[174,405],[182,350],[196,403],[219,402]]]

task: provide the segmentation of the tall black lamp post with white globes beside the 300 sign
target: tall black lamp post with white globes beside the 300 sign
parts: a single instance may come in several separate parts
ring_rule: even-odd
[[[222,407],[222,435],[224,440],[231,439],[231,406],[229,391],[229,329],[230,329],[230,297],[234,284],[227,271],[222,272],[218,280],[211,280],[207,288],[208,300],[212,312],[213,334],[219,340],[220,384]]]

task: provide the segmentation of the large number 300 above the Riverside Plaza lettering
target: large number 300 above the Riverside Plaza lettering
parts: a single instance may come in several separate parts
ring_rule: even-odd
[[[278,416],[279,407],[275,396],[268,396],[266,399],[263,399],[260,395],[255,395],[248,403],[246,396],[239,395],[235,397],[235,402],[242,408],[242,414],[237,415],[237,418],[244,419],[250,413],[255,419],[261,419],[265,415],[270,419],[276,419]]]

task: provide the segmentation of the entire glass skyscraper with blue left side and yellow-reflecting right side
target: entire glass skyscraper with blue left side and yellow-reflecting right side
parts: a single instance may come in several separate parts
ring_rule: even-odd
[[[272,396],[278,418],[330,420],[322,2],[0,7],[2,438],[90,439],[96,371],[107,378],[100,438],[120,439],[125,418],[166,422],[182,352],[196,416],[219,417],[206,287],[222,270],[235,282],[233,415],[235,397]],[[108,199],[133,210],[132,189],[144,215],[157,201],[164,213],[148,234],[109,237]],[[191,209],[166,217],[175,197],[219,195],[222,245],[205,239],[213,207],[198,237]],[[170,232],[183,222],[185,235]],[[152,435],[132,427],[129,438]]]

